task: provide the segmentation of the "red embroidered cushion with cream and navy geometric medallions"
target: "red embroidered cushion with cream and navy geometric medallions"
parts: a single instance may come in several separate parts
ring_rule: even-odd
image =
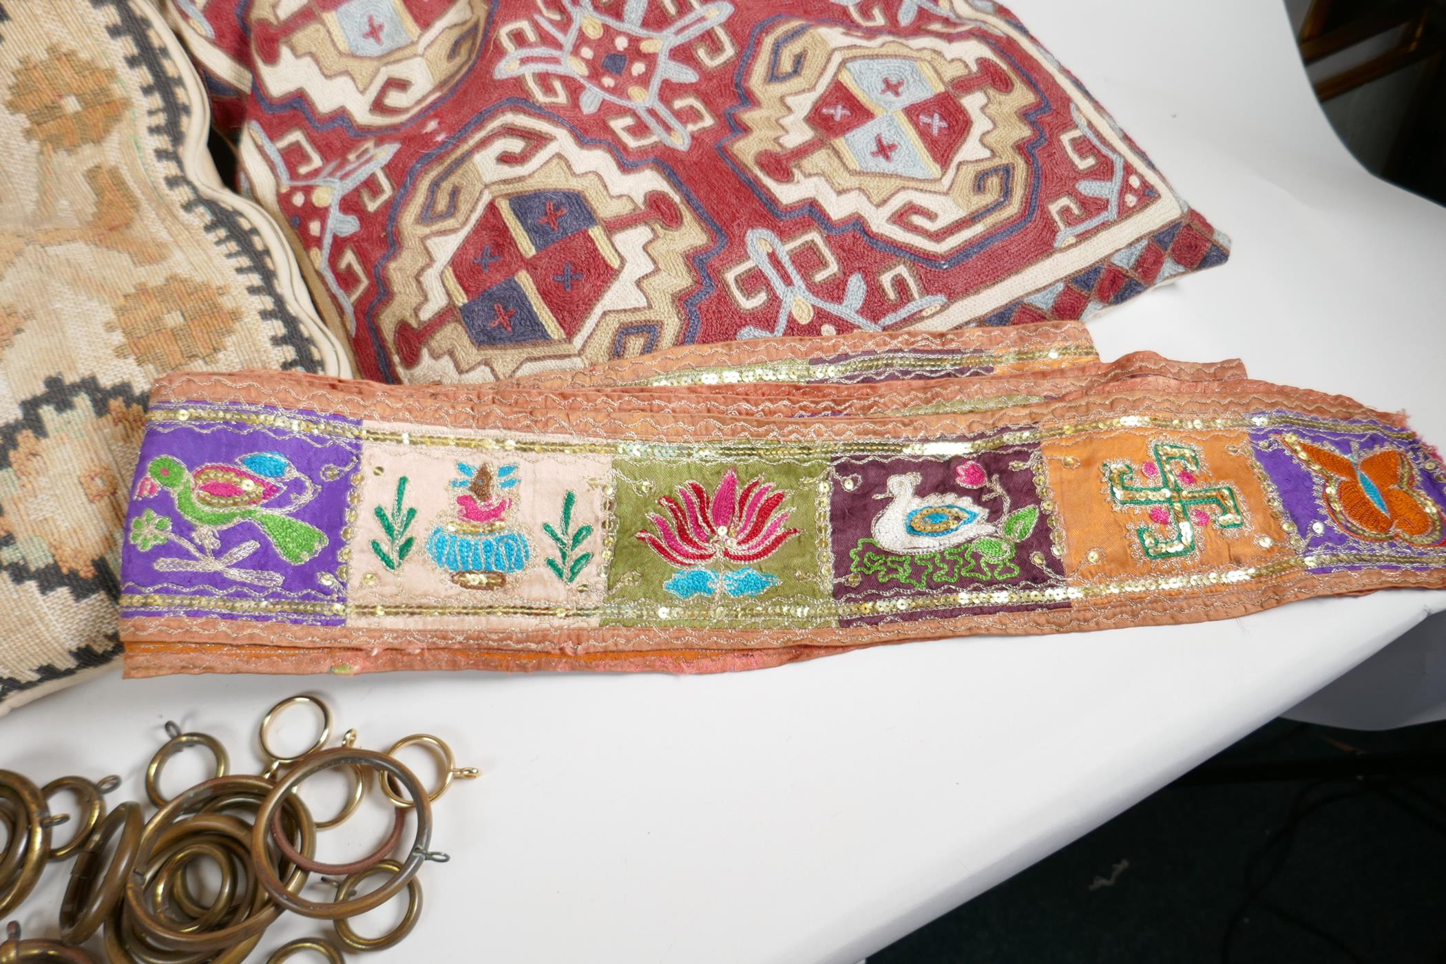
[[[1226,259],[988,0],[169,0],[362,373],[1079,319]]]

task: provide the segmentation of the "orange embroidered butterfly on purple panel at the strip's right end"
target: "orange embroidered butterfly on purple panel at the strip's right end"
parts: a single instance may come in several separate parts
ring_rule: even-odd
[[[1323,481],[1326,515],[1336,528],[1372,542],[1404,541],[1434,546],[1442,539],[1436,503],[1416,487],[1416,467],[1395,448],[1349,458],[1297,435],[1281,442]]]

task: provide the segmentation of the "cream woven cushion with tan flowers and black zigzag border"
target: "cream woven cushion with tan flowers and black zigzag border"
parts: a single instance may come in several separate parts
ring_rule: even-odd
[[[291,251],[221,188],[146,0],[0,16],[0,713],[120,652],[121,522],[158,376],[346,373]]]

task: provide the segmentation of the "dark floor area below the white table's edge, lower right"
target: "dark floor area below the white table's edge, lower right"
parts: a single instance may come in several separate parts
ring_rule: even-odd
[[[1275,720],[868,964],[1116,961],[1446,963],[1446,723]]]

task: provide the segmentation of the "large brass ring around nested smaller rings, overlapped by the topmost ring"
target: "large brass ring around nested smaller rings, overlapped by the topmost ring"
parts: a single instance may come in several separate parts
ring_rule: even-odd
[[[175,799],[156,811],[150,822],[146,824],[146,830],[140,835],[136,864],[139,867],[150,866],[150,858],[156,851],[161,834],[171,824],[176,822],[178,818],[200,809],[214,798],[233,796],[239,792],[266,798],[257,811],[257,825],[252,828],[252,873],[266,886],[266,892],[272,893],[273,898],[276,893],[294,898],[295,892],[301,890],[307,883],[308,874],[299,867],[292,867],[286,882],[281,882],[276,874],[278,858],[266,848],[269,832],[266,832],[268,827],[265,824],[270,818],[270,809],[275,806],[291,809],[296,821],[301,853],[311,856],[315,853],[317,845],[315,822],[311,819],[311,814],[301,799],[285,795],[283,799],[276,799],[275,788],[259,776],[215,778],[178,793]],[[213,814],[213,817],[220,815]],[[192,819],[198,819],[198,817]],[[145,899],[146,883],[145,874],[137,873],[132,873],[126,880],[126,911],[133,916],[136,926],[147,935],[150,944],[172,951],[220,951],[234,948],[240,941],[259,937],[276,921],[285,906],[281,902],[263,900],[265,895],[257,892],[256,902],[252,906],[253,913],[249,913],[243,921],[204,934],[182,934],[152,913]]]

